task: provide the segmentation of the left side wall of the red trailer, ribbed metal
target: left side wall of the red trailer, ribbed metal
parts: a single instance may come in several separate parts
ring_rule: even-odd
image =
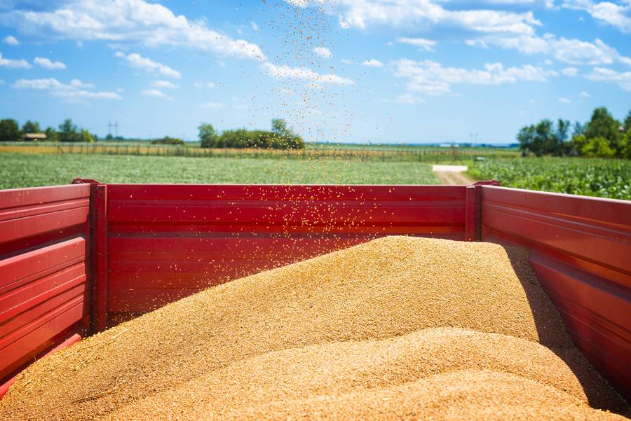
[[[0,191],[0,384],[89,319],[90,186]]]

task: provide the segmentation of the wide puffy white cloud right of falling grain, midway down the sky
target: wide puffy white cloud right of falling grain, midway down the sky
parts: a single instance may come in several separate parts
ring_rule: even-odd
[[[557,72],[541,67],[524,65],[522,67],[503,67],[501,63],[490,63],[484,69],[461,69],[442,67],[442,64],[425,60],[397,60],[394,63],[395,76],[407,78],[407,89],[426,95],[441,95],[451,92],[454,84],[501,85],[518,81],[545,82]]]

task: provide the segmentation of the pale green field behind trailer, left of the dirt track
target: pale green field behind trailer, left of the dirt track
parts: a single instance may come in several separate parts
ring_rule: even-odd
[[[0,153],[0,188],[107,183],[438,184],[413,162]]]

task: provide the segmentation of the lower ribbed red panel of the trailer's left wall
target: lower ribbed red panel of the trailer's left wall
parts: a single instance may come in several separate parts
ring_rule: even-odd
[[[74,238],[0,261],[0,379],[85,316],[85,243]]]

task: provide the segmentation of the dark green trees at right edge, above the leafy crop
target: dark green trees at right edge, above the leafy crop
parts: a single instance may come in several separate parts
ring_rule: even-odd
[[[522,156],[586,156],[631,158],[631,111],[623,122],[613,118],[606,107],[592,112],[586,123],[544,119],[520,129],[517,140]]]

